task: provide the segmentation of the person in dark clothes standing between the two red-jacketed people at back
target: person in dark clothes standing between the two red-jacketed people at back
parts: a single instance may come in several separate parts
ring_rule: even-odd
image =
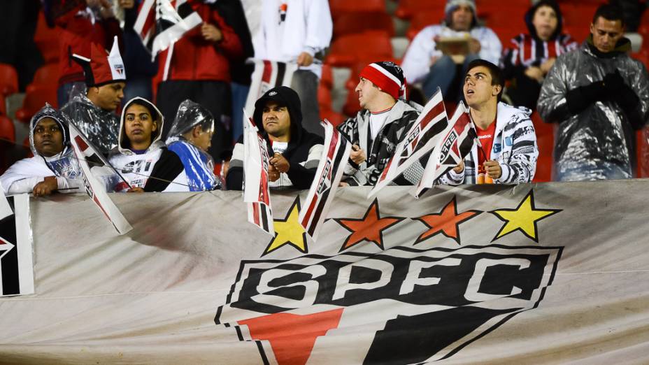
[[[124,67],[129,70],[129,87],[124,89],[124,99],[136,96],[151,100],[153,92],[151,80],[157,73],[157,62],[151,62],[151,55],[144,48],[140,36],[133,30],[138,17],[138,6],[142,0],[118,0],[124,10]]]

